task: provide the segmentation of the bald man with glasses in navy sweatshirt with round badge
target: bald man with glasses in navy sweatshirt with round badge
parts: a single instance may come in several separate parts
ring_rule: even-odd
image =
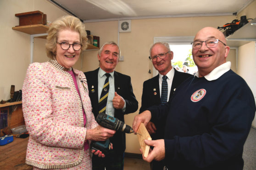
[[[165,161],[169,170],[242,170],[243,146],[255,116],[254,96],[226,61],[229,47],[222,32],[205,27],[192,43],[198,72],[175,90],[168,103],[152,106],[134,118],[140,122],[166,117],[164,139],[147,158]]]

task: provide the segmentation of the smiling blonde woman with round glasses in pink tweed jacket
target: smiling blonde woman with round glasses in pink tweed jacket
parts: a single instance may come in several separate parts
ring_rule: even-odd
[[[35,170],[91,170],[90,141],[104,141],[115,133],[95,121],[86,78],[72,68],[86,47],[84,24],[63,16],[48,31],[50,60],[28,67],[22,109],[29,133],[26,163]]]

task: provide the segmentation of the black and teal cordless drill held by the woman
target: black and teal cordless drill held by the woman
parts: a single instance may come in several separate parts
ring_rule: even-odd
[[[99,113],[99,115],[96,117],[96,122],[103,128],[108,128],[124,133],[134,133],[133,128],[124,124],[124,122],[120,121],[119,119],[111,117],[103,112]],[[110,150],[110,140],[107,139],[106,141],[92,141],[91,149],[94,149],[95,151],[100,150],[103,154],[107,154]]]

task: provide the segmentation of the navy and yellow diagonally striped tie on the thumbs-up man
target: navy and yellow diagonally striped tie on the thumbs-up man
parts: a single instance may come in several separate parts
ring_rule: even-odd
[[[107,103],[107,96],[108,96],[108,90],[109,90],[108,78],[109,78],[110,74],[106,73],[105,75],[106,75],[105,84],[104,84],[101,94],[100,94],[99,113],[106,112],[106,103]]]

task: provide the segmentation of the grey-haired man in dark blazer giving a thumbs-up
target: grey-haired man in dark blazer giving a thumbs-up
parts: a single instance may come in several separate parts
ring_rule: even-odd
[[[85,72],[88,83],[89,97],[91,99],[95,118],[99,114],[99,100],[102,88],[109,73],[109,91],[107,96],[106,114],[116,117],[124,122],[124,115],[136,112],[138,101],[136,100],[131,78],[128,75],[118,73],[115,67],[120,57],[120,49],[114,42],[102,45],[98,53],[100,68]],[[125,133],[117,132],[110,138],[113,150],[105,158],[93,156],[93,170],[123,170],[125,150]]]

